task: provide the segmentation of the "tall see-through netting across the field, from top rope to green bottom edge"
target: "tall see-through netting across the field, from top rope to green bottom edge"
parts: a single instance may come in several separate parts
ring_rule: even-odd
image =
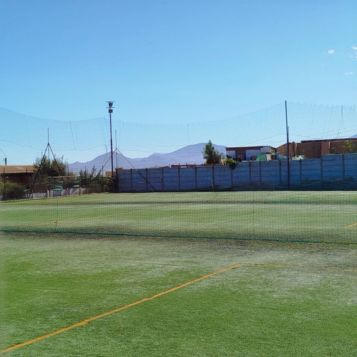
[[[288,104],[291,142],[346,139],[345,153],[291,161],[276,152],[247,154],[217,166],[201,166],[203,148],[197,156],[193,146],[208,140],[228,147],[282,146],[285,105],[176,125],[129,123],[114,115],[115,189],[102,176],[110,164],[109,118],[51,121],[0,109],[0,119],[0,153],[8,164],[32,164],[49,134],[56,156],[70,164],[99,156],[96,162],[106,168],[100,176],[48,178],[24,193],[46,198],[22,201],[4,200],[11,177],[3,168],[0,231],[357,243],[357,154],[348,141],[357,134],[354,106]],[[177,165],[160,159],[173,151]],[[147,156],[151,166],[142,159]]]

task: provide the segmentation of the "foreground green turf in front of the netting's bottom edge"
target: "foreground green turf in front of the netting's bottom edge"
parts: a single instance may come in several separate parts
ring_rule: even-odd
[[[356,245],[4,232],[0,242],[4,356],[357,354]]]

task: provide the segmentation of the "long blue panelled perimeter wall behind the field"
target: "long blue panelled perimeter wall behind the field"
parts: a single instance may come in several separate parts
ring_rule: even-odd
[[[116,171],[119,192],[357,190],[357,154]]]

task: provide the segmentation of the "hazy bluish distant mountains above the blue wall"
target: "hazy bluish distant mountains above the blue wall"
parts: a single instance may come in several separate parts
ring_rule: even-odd
[[[114,169],[121,167],[122,169],[146,169],[152,167],[163,167],[171,165],[185,164],[204,164],[202,156],[203,147],[206,143],[188,145],[176,151],[167,154],[152,154],[145,158],[131,159],[119,152],[114,152],[113,164]],[[214,148],[220,153],[226,154],[226,146],[213,144]],[[86,162],[74,162],[69,164],[69,169],[78,174],[81,170],[91,171],[93,166],[96,166],[97,172],[103,168],[103,171],[111,171],[110,153],[96,156],[95,159]]]

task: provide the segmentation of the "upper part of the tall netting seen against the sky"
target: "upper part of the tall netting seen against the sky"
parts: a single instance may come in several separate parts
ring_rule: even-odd
[[[69,163],[91,161],[111,152],[109,117],[54,121],[0,109],[0,121],[2,163],[7,156],[8,164],[32,164],[46,149],[48,139],[54,153]],[[355,106],[289,103],[288,126],[290,141],[350,138],[357,134],[357,111]],[[201,118],[186,123],[183,118],[173,125],[130,123],[114,112],[112,138],[114,147],[128,159],[121,166],[130,159],[170,153],[208,140],[221,146],[277,147],[286,143],[285,105],[209,122]],[[103,157],[99,165],[106,160]]]

